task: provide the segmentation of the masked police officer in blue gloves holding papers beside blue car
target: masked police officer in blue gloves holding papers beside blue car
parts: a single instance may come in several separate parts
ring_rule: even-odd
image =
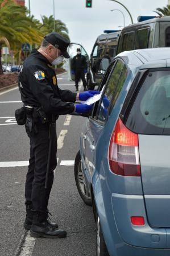
[[[69,58],[69,41],[56,32],[46,35],[38,50],[24,61],[19,74],[19,90],[26,110],[26,132],[30,138],[30,160],[26,176],[26,220],[24,228],[32,237],[61,238],[67,232],[49,221],[48,199],[53,184],[57,138],[56,119],[59,115],[88,112],[92,106],[73,104],[98,93],[73,93],[61,90],[52,65]],[[71,103],[69,103],[71,102]]]

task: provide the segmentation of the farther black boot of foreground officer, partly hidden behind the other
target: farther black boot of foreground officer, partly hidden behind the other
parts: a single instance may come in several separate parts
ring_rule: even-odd
[[[32,225],[32,218],[33,218],[33,212],[31,210],[32,204],[26,204],[26,220],[24,221],[24,229],[30,230],[31,225]],[[53,223],[50,221],[49,214],[51,213],[48,212],[46,213],[46,220],[49,223],[49,225],[53,226],[54,228],[59,228],[59,226],[56,223]]]

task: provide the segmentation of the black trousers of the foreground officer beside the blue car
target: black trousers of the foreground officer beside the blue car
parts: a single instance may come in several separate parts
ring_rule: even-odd
[[[51,158],[49,164],[48,184],[45,188],[49,151],[49,123],[38,123],[38,133],[27,133],[30,138],[30,160],[26,176],[26,204],[32,204],[32,210],[47,212],[49,194],[53,184],[53,170],[57,166],[57,136],[56,125],[53,127]]]

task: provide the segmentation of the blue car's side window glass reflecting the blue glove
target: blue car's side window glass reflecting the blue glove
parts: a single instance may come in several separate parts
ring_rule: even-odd
[[[101,98],[101,101],[98,106],[98,120],[105,122],[107,119],[107,115],[109,114],[109,108],[113,108],[114,101],[112,98],[116,92],[117,84],[119,81],[119,77],[121,76],[123,70],[124,63],[121,60],[118,60],[115,64],[113,72],[109,77],[109,81],[107,81],[107,85],[105,88],[105,92]]]

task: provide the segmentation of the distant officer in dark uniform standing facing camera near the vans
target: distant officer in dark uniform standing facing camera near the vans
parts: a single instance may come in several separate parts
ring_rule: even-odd
[[[75,74],[75,86],[78,91],[78,81],[82,80],[84,90],[86,89],[85,73],[87,72],[86,57],[81,55],[81,49],[77,48],[77,55],[72,59],[72,73]]]

